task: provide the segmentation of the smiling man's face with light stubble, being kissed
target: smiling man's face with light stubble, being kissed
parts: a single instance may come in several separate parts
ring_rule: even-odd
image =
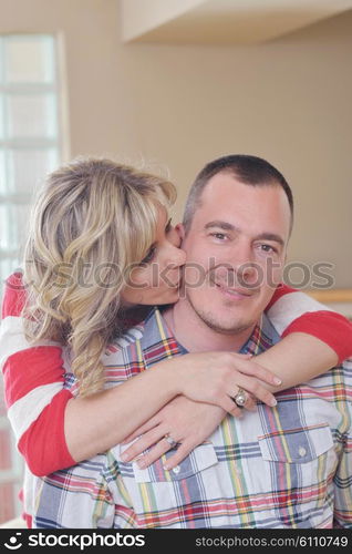
[[[281,281],[290,218],[280,186],[209,179],[183,243],[185,301],[208,327],[237,334],[258,321]]]

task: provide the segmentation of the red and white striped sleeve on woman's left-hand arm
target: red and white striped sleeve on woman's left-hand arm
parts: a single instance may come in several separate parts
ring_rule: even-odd
[[[0,366],[8,417],[19,451],[35,475],[75,463],[64,437],[64,412],[71,392],[60,345],[42,340],[31,346],[21,316],[25,300],[21,274],[7,279],[0,326]]]

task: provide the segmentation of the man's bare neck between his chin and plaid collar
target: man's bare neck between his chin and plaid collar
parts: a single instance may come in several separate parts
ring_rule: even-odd
[[[239,351],[255,326],[234,334],[222,334],[208,327],[186,301],[178,301],[163,314],[177,341],[189,352],[207,350]]]

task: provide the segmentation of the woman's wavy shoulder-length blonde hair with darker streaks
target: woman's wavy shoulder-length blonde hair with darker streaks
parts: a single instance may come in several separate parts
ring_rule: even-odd
[[[159,176],[92,157],[51,173],[39,194],[24,248],[25,334],[71,347],[82,396],[103,386],[123,285],[155,239],[158,206],[175,198]]]

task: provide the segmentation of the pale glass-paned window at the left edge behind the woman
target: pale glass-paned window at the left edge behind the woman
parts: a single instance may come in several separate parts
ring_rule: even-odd
[[[20,266],[33,193],[61,162],[56,50],[52,35],[0,35],[0,296]],[[0,523],[19,514],[22,481],[1,399]]]

